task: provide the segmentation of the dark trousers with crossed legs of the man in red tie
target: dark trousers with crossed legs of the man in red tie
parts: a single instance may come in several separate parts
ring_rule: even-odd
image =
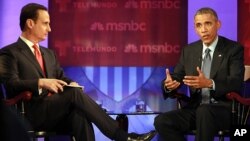
[[[68,130],[77,141],[94,141],[92,123],[112,140],[126,141],[127,133],[79,88],[66,88],[59,94],[40,96],[28,103],[28,118],[37,129]]]

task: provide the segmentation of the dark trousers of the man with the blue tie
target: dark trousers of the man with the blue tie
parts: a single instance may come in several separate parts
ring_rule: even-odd
[[[154,126],[162,141],[185,141],[185,133],[196,129],[196,141],[213,141],[220,129],[230,128],[229,102],[203,104],[197,109],[169,111],[155,118]]]

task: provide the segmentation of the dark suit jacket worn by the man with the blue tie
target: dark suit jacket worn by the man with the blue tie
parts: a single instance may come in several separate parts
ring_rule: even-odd
[[[196,67],[201,68],[202,63],[202,41],[193,42],[182,49],[180,60],[171,74],[174,80],[182,83],[185,75],[198,75]],[[217,101],[226,101],[228,92],[240,92],[244,77],[244,48],[240,44],[219,36],[216,45],[210,78],[214,80],[215,90],[211,96]],[[163,82],[162,82],[163,86]],[[173,96],[176,91],[168,92],[163,88],[164,98]],[[191,101],[188,104],[197,107],[201,100],[201,89],[190,88]]]

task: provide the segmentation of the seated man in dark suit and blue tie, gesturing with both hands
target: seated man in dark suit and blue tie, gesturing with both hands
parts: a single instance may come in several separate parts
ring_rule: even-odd
[[[166,69],[166,79],[162,81],[165,99],[173,97],[181,84],[190,90],[186,107],[155,118],[155,128],[164,141],[184,141],[184,133],[191,129],[197,130],[196,141],[213,141],[220,129],[230,128],[231,102],[226,94],[242,88],[243,47],[217,34],[221,26],[217,13],[211,8],[199,9],[194,26],[200,40],[182,49],[174,72],[170,75]],[[205,75],[207,60],[211,66]]]

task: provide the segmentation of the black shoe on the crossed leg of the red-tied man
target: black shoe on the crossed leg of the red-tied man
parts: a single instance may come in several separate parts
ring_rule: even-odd
[[[128,136],[128,141],[150,141],[156,134],[156,131],[152,130],[145,134],[131,133]]]

